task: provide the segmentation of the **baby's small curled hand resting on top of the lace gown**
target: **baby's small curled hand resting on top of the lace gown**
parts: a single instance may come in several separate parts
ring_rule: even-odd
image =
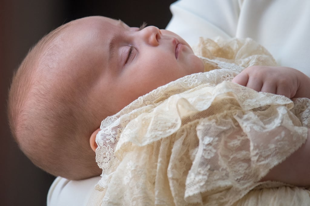
[[[232,82],[258,92],[269,92],[288,98],[310,98],[310,78],[290,67],[248,67],[232,79]]]

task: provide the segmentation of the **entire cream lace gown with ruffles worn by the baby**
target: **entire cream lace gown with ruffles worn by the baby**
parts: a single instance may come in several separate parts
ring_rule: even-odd
[[[246,67],[276,64],[251,39],[201,39],[195,51],[206,72],[102,121],[103,173],[89,205],[310,205],[306,188],[259,182],[305,142],[310,101],[231,82]]]

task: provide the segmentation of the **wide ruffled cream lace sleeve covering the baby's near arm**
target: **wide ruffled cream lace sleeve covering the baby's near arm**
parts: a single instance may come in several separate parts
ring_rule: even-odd
[[[233,204],[305,141],[292,108],[227,81],[171,96],[122,131],[104,204]]]

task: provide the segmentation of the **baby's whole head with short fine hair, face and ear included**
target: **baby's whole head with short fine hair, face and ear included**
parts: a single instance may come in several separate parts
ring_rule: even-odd
[[[101,174],[100,122],[153,89],[202,72],[178,35],[94,16],[65,24],[31,49],[9,92],[11,131],[21,150],[55,176]]]

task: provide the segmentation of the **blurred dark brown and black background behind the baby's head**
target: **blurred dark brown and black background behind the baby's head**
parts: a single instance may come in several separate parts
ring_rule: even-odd
[[[19,151],[7,125],[6,100],[13,71],[42,36],[73,19],[103,15],[129,26],[143,22],[165,28],[175,0],[0,0],[0,205],[46,205],[54,177],[36,168]]]

